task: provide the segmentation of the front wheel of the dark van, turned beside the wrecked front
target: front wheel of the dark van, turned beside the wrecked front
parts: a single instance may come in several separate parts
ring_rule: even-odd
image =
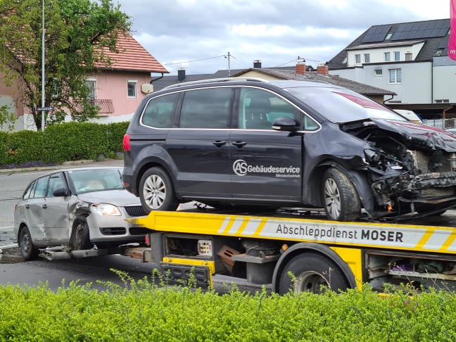
[[[334,167],[323,175],[324,211],[335,221],[355,221],[361,215],[361,201],[350,179]]]

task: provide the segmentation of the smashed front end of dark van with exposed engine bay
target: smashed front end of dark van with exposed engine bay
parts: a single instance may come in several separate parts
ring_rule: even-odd
[[[374,121],[374,122],[372,122]],[[374,201],[390,213],[433,213],[456,204],[456,148],[432,127],[372,120],[342,130],[363,139]],[[411,127],[411,129],[410,129]],[[424,127],[420,132],[419,128]],[[456,137],[449,135],[454,144]]]

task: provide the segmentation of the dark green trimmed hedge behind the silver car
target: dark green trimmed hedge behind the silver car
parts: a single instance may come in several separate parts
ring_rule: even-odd
[[[0,132],[0,167],[58,164],[68,160],[115,158],[122,153],[122,140],[129,122],[108,125],[66,122],[44,132]]]

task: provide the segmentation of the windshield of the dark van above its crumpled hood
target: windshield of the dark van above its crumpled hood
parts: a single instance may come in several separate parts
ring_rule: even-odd
[[[286,90],[334,123],[368,119],[407,121],[393,110],[348,89],[303,87]]]

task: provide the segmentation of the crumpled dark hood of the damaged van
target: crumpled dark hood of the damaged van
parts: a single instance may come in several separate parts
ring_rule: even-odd
[[[422,125],[411,121],[371,119],[381,129],[400,134],[412,144],[442,149],[446,152],[456,152],[456,135],[445,129]]]

